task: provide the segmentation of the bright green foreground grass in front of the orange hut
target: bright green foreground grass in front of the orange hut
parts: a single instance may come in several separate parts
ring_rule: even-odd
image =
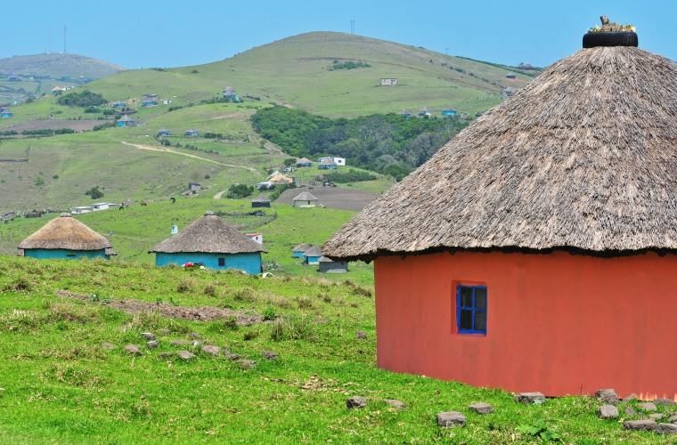
[[[83,295],[82,301],[57,292]],[[232,318],[129,314],[113,309],[120,300],[158,308],[211,306]],[[262,314],[269,321],[236,323],[240,317],[260,321]],[[358,329],[366,340],[355,337]],[[158,349],[145,345],[143,332],[158,336]],[[175,340],[187,344],[170,344]],[[117,347],[109,351],[103,342]],[[194,342],[257,364],[213,356]],[[376,368],[371,288],[351,282],[5,257],[0,344],[5,443],[542,442],[529,426],[549,428],[563,443],[675,443],[669,436],[625,432],[622,419],[598,419],[601,403],[586,395],[525,406],[510,392]],[[126,344],[137,344],[142,355],[123,352]],[[182,360],[178,350],[195,357]],[[366,397],[367,407],[347,410],[352,396]],[[403,401],[406,410],[384,399]],[[478,401],[495,412],[470,412],[469,404]],[[636,403],[622,403],[621,412],[626,405],[639,409]],[[436,414],[447,410],[461,411],[468,425],[439,428]],[[670,414],[666,407],[659,411]]]

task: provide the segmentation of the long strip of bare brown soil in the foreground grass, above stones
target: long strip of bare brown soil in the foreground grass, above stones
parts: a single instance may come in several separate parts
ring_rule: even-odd
[[[94,303],[92,297],[94,294],[71,294],[67,290],[56,292],[56,295],[63,298],[74,298],[81,302]],[[191,321],[214,321],[223,320],[234,316],[238,320],[239,326],[250,326],[261,323],[264,319],[256,312],[238,312],[229,309],[219,309],[214,306],[184,307],[172,306],[168,303],[150,303],[139,300],[110,300],[110,302],[96,302],[102,306],[108,306],[118,311],[123,311],[129,315],[137,312],[159,312],[167,319],[191,320]]]

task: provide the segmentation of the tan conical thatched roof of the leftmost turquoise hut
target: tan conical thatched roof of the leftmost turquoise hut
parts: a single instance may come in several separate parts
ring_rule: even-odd
[[[53,218],[40,230],[19,243],[20,249],[101,250],[113,247],[110,241],[80,223],[70,214]]]

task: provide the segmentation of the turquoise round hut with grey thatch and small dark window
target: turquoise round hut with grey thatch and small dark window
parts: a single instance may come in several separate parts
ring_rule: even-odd
[[[249,274],[262,271],[263,246],[228,225],[214,212],[207,212],[183,231],[148,251],[155,265],[202,263],[215,270],[240,269]]]

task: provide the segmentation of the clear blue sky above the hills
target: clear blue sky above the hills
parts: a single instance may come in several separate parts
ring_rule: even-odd
[[[219,61],[309,31],[349,32],[508,65],[547,66],[581,47],[600,15],[637,26],[640,47],[677,59],[677,2],[512,0],[482,2],[308,0],[249,2],[135,0],[3,2],[0,58],[52,51],[126,68],[177,67]]]

